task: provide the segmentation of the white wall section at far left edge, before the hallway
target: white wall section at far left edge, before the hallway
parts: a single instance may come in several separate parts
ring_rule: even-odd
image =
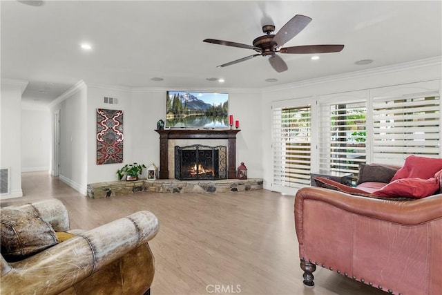
[[[10,193],[17,198],[21,191],[21,94],[28,82],[1,80],[0,95],[0,167],[10,167]]]

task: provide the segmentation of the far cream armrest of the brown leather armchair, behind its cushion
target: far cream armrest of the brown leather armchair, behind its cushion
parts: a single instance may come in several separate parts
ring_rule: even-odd
[[[55,231],[68,231],[70,229],[68,209],[60,200],[48,199],[28,204],[12,205],[8,208],[37,214],[41,219],[49,222]]]

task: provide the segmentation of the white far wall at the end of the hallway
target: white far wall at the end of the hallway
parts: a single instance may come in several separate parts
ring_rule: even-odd
[[[21,171],[49,171],[51,121],[49,109],[21,110]]]

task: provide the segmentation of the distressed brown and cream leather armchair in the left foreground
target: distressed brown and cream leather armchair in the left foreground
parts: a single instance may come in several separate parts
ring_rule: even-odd
[[[17,221],[17,213],[28,216]],[[90,231],[70,231],[68,211],[56,199],[5,207],[1,214],[1,294],[150,292],[155,265],[147,242],[158,231],[153,213],[139,211]],[[32,233],[26,232],[41,222],[49,225],[35,233],[39,242],[49,242],[43,250],[37,249],[42,246],[33,240]],[[59,232],[75,236],[60,242]],[[8,236],[19,245],[3,245]],[[35,249],[37,254],[32,253]]]

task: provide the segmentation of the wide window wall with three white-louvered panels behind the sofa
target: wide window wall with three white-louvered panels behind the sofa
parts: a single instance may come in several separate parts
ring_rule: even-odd
[[[321,171],[356,181],[361,163],[441,158],[440,88],[431,80],[273,102],[273,189],[307,187]]]

